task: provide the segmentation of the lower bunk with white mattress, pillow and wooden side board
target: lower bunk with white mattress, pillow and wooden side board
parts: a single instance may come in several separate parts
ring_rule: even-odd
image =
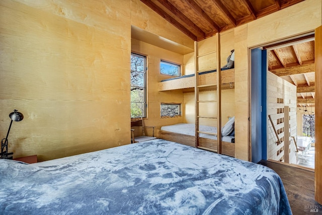
[[[217,128],[212,126],[200,125],[199,130],[210,133],[217,133]],[[234,157],[234,117],[230,117],[228,122],[222,127],[221,134],[221,153]],[[157,137],[195,147],[195,124],[179,123],[174,125],[162,126],[157,130]],[[200,133],[198,148],[217,152],[217,135]]]

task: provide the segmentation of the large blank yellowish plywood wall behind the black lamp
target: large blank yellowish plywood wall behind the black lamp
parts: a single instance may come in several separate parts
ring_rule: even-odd
[[[0,3],[0,134],[39,161],[130,142],[130,2]],[[121,26],[128,26],[123,28]]]

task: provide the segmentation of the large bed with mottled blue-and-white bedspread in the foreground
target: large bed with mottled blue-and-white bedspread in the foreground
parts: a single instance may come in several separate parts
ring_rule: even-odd
[[[163,139],[0,175],[0,214],[291,214],[273,170]]]

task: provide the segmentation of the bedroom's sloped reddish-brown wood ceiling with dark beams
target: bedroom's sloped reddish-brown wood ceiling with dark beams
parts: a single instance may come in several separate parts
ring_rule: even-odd
[[[141,0],[195,41],[302,1],[304,0]]]

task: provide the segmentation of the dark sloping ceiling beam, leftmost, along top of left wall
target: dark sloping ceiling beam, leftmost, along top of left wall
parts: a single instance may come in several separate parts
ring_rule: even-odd
[[[157,5],[155,5],[150,0],[141,0],[147,7],[151,8],[155,13],[163,17],[165,20],[173,24],[175,27],[177,27],[179,30],[181,30],[184,34],[186,34],[188,37],[190,37],[193,40],[197,40],[197,36],[193,34],[191,31],[189,31],[185,26],[180,24],[177,20],[172,18],[169,14],[165,13],[162,9],[160,9]]]

